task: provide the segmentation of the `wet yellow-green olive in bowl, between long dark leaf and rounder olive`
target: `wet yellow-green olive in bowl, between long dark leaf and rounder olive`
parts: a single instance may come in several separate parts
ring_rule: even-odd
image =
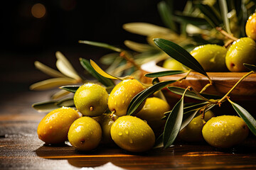
[[[190,53],[202,65],[206,72],[225,72],[225,55],[227,50],[220,45],[201,45]]]

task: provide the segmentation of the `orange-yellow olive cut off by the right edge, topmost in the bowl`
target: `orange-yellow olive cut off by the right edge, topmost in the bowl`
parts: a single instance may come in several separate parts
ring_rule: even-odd
[[[253,13],[247,20],[245,25],[245,33],[248,38],[256,40],[256,13]]]

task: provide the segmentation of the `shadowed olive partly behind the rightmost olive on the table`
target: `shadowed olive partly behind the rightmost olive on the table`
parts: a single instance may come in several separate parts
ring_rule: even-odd
[[[193,118],[188,125],[186,125],[181,132],[178,133],[178,138],[186,142],[201,142],[203,141],[202,129],[205,120],[206,122],[214,116],[212,111],[207,111],[204,118],[202,115],[196,116]]]

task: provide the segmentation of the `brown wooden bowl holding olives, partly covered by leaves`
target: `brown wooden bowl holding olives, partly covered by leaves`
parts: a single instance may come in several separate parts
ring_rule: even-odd
[[[151,72],[166,71],[164,67],[161,67],[161,60],[154,60],[142,65],[144,74]],[[210,79],[213,80],[213,85],[209,86],[203,93],[214,94],[218,96],[224,96],[246,72],[207,72]],[[183,77],[185,74],[176,74],[172,76],[159,77],[160,81],[177,80]],[[143,77],[143,82],[151,82],[151,78]],[[170,84],[170,86],[178,86],[186,88],[191,86],[196,91],[201,91],[209,80],[203,74],[198,72],[191,72],[186,79],[181,82]],[[230,98],[233,101],[256,101],[256,74],[250,74],[243,79],[240,84],[232,91]]]

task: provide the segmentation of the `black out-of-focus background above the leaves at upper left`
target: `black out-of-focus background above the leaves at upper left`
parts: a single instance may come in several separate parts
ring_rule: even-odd
[[[31,8],[43,4],[46,14],[35,18]],[[28,90],[30,84],[48,79],[34,68],[36,60],[55,68],[55,52],[65,57],[82,72],[79,57],[97,60],[108,50],[79,44],[78,40],[106,42],[124,47],[124,40],[146,42],[140,35],[122,29],[124,23],[146,22],[164,26],[156,0],[108,1],[1,1],[1,89]],[[178,4],[179,3],[179,4]],[[182,9],[185,1],[176,2]]]

